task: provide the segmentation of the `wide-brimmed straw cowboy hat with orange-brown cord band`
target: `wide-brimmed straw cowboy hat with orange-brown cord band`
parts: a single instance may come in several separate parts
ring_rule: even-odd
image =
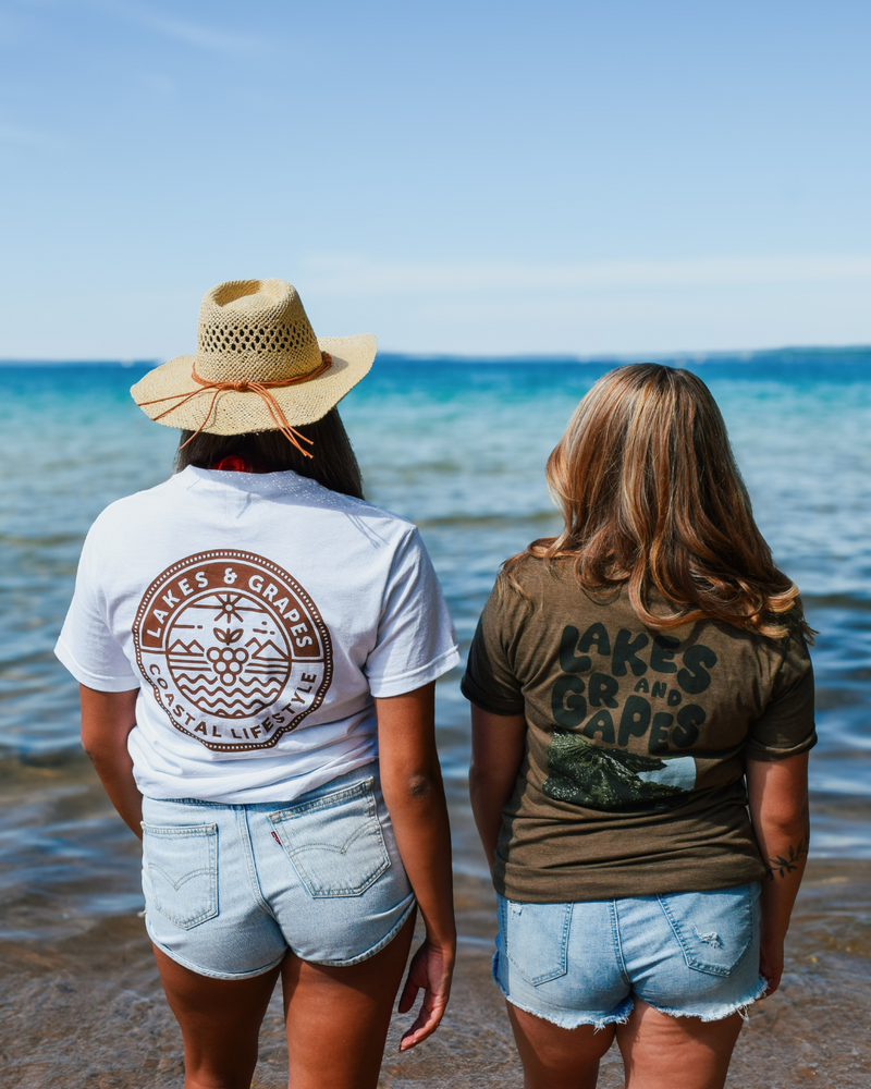
[[[369,372],[371,333],[324,337],[284,280],[230,280],[199,310],[195,355],[180,355],[132,389],[151,419],[211,435],[280,430],[303,453],[294,425],[314,424]]]

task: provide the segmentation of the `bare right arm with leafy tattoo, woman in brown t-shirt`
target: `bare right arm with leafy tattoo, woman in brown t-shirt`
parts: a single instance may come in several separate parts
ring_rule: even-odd
[[[808,859],[808,754],[748,760],[747,794],[756,841],[768,870],[762,883],[760,972],[766,994],[783,975],[783,943]]]

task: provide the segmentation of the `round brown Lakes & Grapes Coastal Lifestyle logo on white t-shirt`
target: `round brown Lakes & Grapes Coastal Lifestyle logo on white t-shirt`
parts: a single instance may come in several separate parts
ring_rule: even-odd
[[[271,747],[332,680],[315,602],[252,552],[199,552],[168,567],[143,597],[133,638],[170,722],[211,749]]]

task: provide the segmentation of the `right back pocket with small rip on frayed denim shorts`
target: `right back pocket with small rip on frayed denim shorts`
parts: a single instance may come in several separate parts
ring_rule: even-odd
[[[753,943],[759,883],[660,896],[687,966],[728,976]]]

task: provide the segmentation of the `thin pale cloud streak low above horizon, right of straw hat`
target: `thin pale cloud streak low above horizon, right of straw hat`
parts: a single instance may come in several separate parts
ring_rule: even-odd
[[[871,255],[710,257],[686,260],[376,261],[318,255],[306,261],[312,290],[328,294],[596,291],[634,287],[755,286],[871,280]]]

